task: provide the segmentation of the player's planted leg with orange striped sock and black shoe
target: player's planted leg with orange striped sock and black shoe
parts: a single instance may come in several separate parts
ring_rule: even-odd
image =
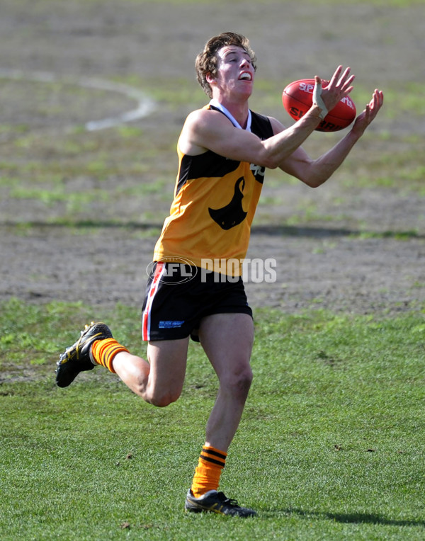
[[[217,491],[227,448],[239,426],[251,386],[249,359],[254,324],[247,314],[215,314],[203,319],[199,334],[220,387],[185,508],[195,513],[209,511],[229,516],[255,516],[252,509],[239,506],[236,500]]]

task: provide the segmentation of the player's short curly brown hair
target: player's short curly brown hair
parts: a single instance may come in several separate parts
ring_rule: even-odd
[[[207,74],[209,73],[212,76],[217,74],[217,52],[227,45],[237,45],[237,47],[242,47],[242,49],[248,53],[254,70],[256,70],[256,55],[249,45],[248,38],[234,32],[223,32],[220,35],[216,35],[206,42],[203,51],[196,57],[195,62],[198,83],[202,86],[209,98],[212,98],[212,90],[210,83],[207,81]]]

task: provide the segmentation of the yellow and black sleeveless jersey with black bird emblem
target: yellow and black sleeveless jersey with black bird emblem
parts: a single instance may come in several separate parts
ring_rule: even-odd
[[[220,110],[212,103],[205,108]],[[253,111],[250,118],[255,135],[261,139],[273,135],[268,118]],[[174,200],[154,249],[154,261],[181,258],[210,270],[213,261],[216,265],[219,262],[215,271],[241,275],[265,168],[227,159],[210,150],[188,156],[178,147],[177,153],[179,172]],[[229,260],[232,264],[223,265]]]

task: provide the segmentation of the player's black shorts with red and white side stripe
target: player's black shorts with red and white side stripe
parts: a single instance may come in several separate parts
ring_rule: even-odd
[[[242,278],[193,266],[154,263],[142,308],[145,341],[199,341],[201,319],[212,314],[249,314]]]

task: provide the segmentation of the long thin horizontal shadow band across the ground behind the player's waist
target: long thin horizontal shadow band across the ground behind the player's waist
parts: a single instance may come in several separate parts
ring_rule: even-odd
[[[114,222],[102,220],[77,220],[75,222],[0,222],[0,227],[39,227],[39,228],[71,228],[71,229],[162,229],[162,223]],[[258,225],[251,229],[252,235],[269,235],[271,237],[363,237],[375,239],[425,239],[425,234],[416,231],[359,231],[358,229],[303,227],[291,225]]]

